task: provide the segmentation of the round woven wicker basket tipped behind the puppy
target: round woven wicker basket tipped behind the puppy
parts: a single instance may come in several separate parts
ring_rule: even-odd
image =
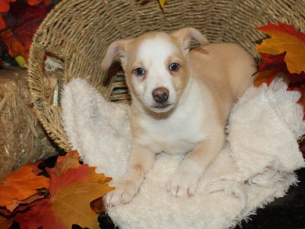
[[[198,28],[212,43],[239,43],[248,51],[264,35],[254,27],[280,20],[305,31],[303,0],[63,0],[44,19],[28,59],[28,83],[36,115],[49,136],[68,151],[59,106],[47,102],[43,84],[45,54],[64,62],[63,82],[84,77],[109,101],[129,101],[126,84],[100,63],[108,45],[148,31]],[[119,92],[119,93],[118,93]]]

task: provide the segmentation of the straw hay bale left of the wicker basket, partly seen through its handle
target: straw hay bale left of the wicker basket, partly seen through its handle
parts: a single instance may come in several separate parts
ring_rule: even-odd
[[[56,82],[54,75],[45,77],[50,102]],[[57,154],[35,117],[25,70],[0,71],[0,120],[0,173]]]

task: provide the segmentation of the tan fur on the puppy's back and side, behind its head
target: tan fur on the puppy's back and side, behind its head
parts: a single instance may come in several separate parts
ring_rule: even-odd
[[[211,90],[219,116],[226,122],[236,99],[253,83],[249,77],[256,69],[252,56],[237,44],[210,44],[190,51],[190,65],[194,76]]]

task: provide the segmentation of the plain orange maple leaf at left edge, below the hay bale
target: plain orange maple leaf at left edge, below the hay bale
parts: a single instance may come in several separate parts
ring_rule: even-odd
[[[21,166],[18,170],[5,176],[0,183],[0,206],[14,204],[14,200],[24,201],[37,193],[36,189],[48,188],[50,179],[36,176],[31,165]]]

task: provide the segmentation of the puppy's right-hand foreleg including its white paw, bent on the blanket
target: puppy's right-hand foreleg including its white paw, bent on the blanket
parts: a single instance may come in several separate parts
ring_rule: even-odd
[[[224,133],[210,136],[188,153],[179,169],[167,182],[167,190],[175,197],[193,196],[197,183],[205,169],[217,157],[224,146]]]

